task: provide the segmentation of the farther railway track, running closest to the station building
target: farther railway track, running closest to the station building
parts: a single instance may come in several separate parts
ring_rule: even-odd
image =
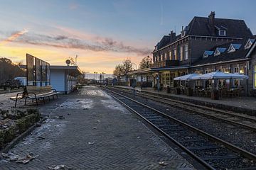
[[[130,92],[131,90],[124,90],[118,89],[119,91],[123,92]],[[248,130],[252,130],[256,132],[256,118],[250,115],[242,115],[241,113],[233,113],[228,111],[222,111],[216,108],[209,108],[206,106],[198,106],[193,103],[183,102],[183,101],[176,101],[171,98],[163,98],[160,96],[154,96],[151,94],[141,93],[139,91],[136,92],[137,96],[141,96],[144,98],[148,98],[160,103],[164,103],[169,106],[174,106],[176,108],[181,108],[186,111],[191,111],[193,113],[198,113],[209,118],[214,118],[216,120],[220,120],[226,123],[230,123],[233,125],[239,125],[242,128],[247,128]]]

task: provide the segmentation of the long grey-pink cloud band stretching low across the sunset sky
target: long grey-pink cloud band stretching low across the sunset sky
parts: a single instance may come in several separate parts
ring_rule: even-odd
[[[26,33],[26,34],[24,34]],[[21,36],[22,35],[22,36]],[[27,33],[21,31],[12,35],[8,41],[26,43],[31,45],[43,45],[49,47],[91,50],[95,52],[110,51],[110,52],[129,52],[137,55],[149,55],[151,50],[147,48],[138,48],[129,45],[124,45],[122,41],[113,40],[112,38],[103,38],[99,36],[84,35],[44,35],[37,33]]]

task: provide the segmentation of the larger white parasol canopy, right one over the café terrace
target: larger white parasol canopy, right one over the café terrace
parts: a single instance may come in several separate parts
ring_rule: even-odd
[[[248,79],[248,76],[225,72],[210,72],[208,74],[201,74],[199,76],[192,77],[192,79]]]

